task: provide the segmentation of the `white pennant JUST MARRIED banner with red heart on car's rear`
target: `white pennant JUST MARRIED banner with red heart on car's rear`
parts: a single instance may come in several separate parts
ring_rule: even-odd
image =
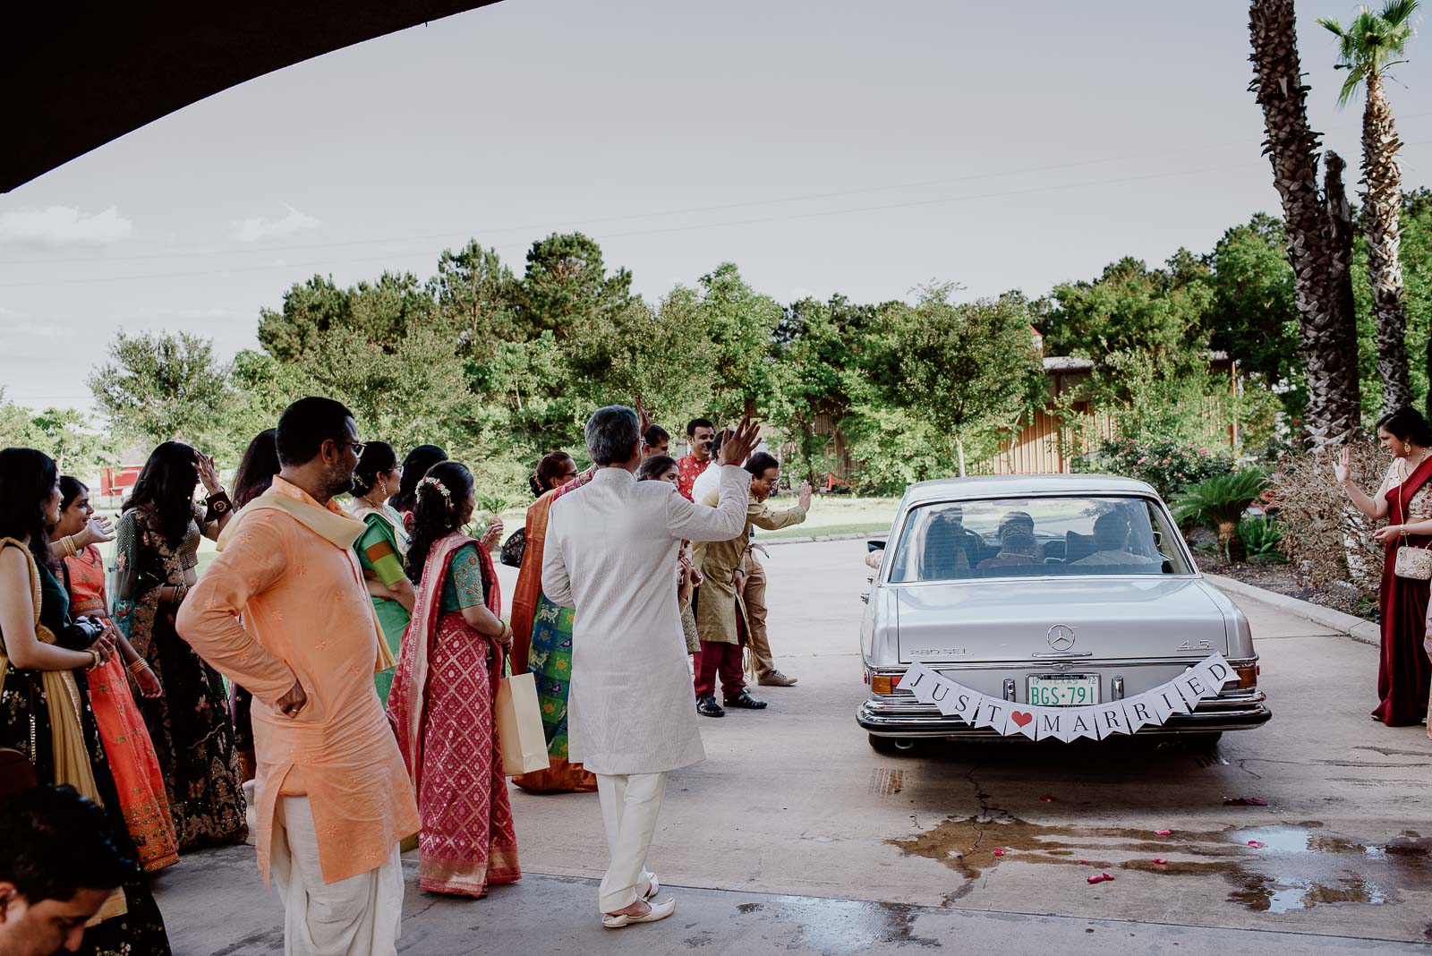
[[[1189,714],[1200,700],[1217,697],[1233,668],[1214,654],[1174,680],[1136,697],[1111,700],[1087,707],[1034,707],[1015,704],[969,690],[915,661],[905,671],[899,687],[915,694],[922,704],[935,704],[947,717],[959,717],[971,727],[990,727],[1012,737],[1030,740],[1103,740],[1113,734],[1131,734],[1140,727],[1164,724],[1171,714]]]

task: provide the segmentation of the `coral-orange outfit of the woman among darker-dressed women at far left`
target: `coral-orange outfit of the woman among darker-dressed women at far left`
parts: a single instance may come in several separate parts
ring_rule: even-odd
[[[99,550],[90,545],[80,554],[64,558],[64,571],[70,588],[70,614],[109,620],[105,561]],[[149,740],[145,718],[129,691],[123,655],[115,654],[107,664],[86,675],[95,723],[115,776],[129,837],[139,852],[139,863],[146,873],[162,870],[179,862],[179,840],[169,816],[155,744]]]

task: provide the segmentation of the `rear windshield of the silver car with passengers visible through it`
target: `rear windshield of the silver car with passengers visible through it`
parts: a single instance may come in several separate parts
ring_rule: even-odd
[[[1177,528],[1150,498],[997,498],[911,509],[889,580],[1191,571]]]

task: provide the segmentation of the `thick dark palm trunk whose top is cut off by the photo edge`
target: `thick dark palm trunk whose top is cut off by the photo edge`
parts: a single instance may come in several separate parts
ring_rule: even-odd
[[[1293,0],[1252,0],[1249,36],[1252,89],[1263,107],[1267,132],[1263,152],[1273,165],[1273,186],[1283,200],[1287,223],[1287,255],[1307,374],[1307,434],[1317,447],[1342,444],[1356,432],[1362,416],[1356,335],[1349,328],[1352,312],[1342,308],[1340,289],[1333,285],[1337,270],[1332,243],[1335,226],[1317,190],[1319,136],[1307,126],[1307,86],[1302,82]],[[1332,167],[1329,179],[1333,179]],[[1346,199],[1340,205],[1346,206]],[[1350,291],[1348,285],[1349,295]]]

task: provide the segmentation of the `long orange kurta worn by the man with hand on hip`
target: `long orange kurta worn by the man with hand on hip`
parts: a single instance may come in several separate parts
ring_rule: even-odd
[[[284,478],[268,495],[322,508]],[[332,502],[328,511],[347,518]],[[418,809],[372,684],[378,633],[352,541],[339,547],[279,509],[235,521],[180,605],[178,630],[253,694],[259,870],[268,882],[279,793],[306,793],[324,882],[367,873],[418,831]],[[357,538],[362,525],[354,525]],[[295,678],[308,704],[289,718],[275,703]]]

